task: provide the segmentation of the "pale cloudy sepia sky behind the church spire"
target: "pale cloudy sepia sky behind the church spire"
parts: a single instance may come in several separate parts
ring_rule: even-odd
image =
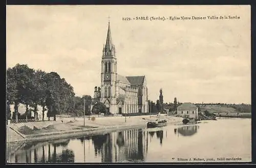
[[[100,86],[110,20],[117,73],[146,75],[148,99],[159,99],[162,88],[164,102],[251,103],[250,6],[15,5],[6,12],[7,68],[57,72],[77,96]],[[240,19],[133,19],[220,15]]]

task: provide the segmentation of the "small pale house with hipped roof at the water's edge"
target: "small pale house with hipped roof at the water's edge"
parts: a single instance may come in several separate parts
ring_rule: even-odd
[[[183,103],[177,107],[177,115],[196,119],[198,118],[198,107],[192,103]]]

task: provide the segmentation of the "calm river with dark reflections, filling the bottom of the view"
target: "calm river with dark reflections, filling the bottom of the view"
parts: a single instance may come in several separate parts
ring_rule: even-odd
[[[251,161],[251,119],[27,143],[7,150],[7,158],[9,163],[246,162]]]

